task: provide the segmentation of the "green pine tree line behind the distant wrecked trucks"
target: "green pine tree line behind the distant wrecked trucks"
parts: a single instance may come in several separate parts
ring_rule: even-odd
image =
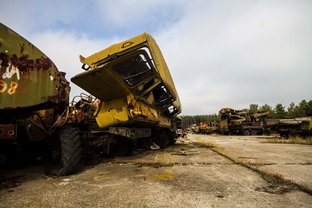
[[[306,100],[302,100],[298,105],[295,105],[294,102],[291,102],[287,110],[285,108],[286,106],[283,106],[281,103],[276,104],[274,108],[269,104],[264,104],[261,107],[259,107],[258,104],[249,105],[249,111],[271,111],[271,114],[266,116],[268,119],[295,119],[305,117],[305,112],[312,110],[312,99],[310,99],[308,102]],[[184,128],[188,128],[193,124],[198,125],[200,123],[221,121],[221,118],[218,116],[218,114],[180,115],[180,117],[182,118],[182,126],[184,126]]]

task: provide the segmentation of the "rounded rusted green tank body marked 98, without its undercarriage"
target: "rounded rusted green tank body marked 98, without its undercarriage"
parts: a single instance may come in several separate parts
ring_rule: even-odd
[[[0,66],[0,112],[66,108],[70,88],[64,73],[36,46],[1,23]]]

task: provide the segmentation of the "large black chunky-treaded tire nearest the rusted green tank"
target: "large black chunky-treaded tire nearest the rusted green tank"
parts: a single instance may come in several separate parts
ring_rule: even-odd
[[[58,144],[55,146],[54,159],[58,176],[66,176],[76,171],[81,159],[81,141],[77,128],[63,126],[58,131]]]

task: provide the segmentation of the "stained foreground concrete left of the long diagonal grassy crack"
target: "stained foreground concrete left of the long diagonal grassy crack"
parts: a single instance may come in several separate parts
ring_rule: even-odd
[[[191,136],[190,138],[195,139]],[[221,140],[222,138],[220,138]],[[261,191],[272,184],[210,149],[194,146],[136,150],[130,157],[97,157],[75,175],[47,177],[45,167],[2,170],[0,207],[312,207],[312,196],[295,189]],[[182,142],[177,142],[183,144]],[[172,167],[152,167],[156,155],[172,155]],[[257,190],[257,191],[256,191]]]

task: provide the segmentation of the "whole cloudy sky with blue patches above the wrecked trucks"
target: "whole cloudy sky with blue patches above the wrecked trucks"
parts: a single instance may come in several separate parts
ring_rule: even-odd
[[[167,62],[182,114],[312,99],[312,1],[14,1],[0,22],[66,72],[79,55],[148,32]],[[83,92],[71,83],[71,98]]]

